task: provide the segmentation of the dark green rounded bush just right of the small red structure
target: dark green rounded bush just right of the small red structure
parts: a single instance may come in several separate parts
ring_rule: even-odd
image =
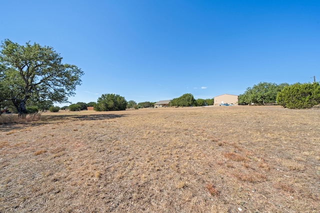
[[[102,94],[94,105],[96,111],[118,111],[125,110],[127,105],[124,97],[116,94]]]

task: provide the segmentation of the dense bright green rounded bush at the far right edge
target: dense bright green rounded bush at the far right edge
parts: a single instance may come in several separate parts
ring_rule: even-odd
[[[285,86],[276,96],[279,105],[289,109],[311,108],[320,104],[319,83],[295,83]]]

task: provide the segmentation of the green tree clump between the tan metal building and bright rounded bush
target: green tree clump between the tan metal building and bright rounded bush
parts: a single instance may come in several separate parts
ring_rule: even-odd
[[[243,94],[240,94],[238,103],[239,105],[251,103],[258,105],[273,104],[276,102],[277,93],[287,85],[287,83],[260,82],[257,85],[253,85],[252,88],[248,87]]]

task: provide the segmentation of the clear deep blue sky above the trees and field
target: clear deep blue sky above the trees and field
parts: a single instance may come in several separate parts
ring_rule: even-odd
[[[84,71],[72,103],[320,79],[319,0],[7,0],[0,20],[0,41],[52,46]]]

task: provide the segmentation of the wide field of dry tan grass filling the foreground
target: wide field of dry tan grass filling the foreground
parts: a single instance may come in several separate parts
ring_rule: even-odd
[[[1,213],[320,212],[320,110],[41,117],[0,125]]]

